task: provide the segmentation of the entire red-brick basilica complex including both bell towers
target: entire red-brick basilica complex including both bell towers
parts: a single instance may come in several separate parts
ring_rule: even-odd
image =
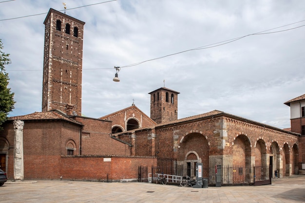
[[[50,9],[44,24],[42,112],[10,117],[0,131],[0,167],[10,179],[16,179],[17,131],[24,179],[131,181],[138,166],[162,160],[174,169],[202,163],[206,169],[249,165],[270,166],[280,176],[304,173],[305,95],[285,103],[289,130],[218,110],[178,119],[179,92],[167,87],[149,93],[150,117],[134,104],[100,118],[83,117],[85,23]]]

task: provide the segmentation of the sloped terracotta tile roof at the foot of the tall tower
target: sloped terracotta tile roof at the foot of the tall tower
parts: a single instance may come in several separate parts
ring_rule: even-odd
[[[81,122],[69,118],[69,116],[58,110],[52,110],[48,112],[35,112],[24,116],[9,117],[8,120],[65,120],[67,122],[83,125]]]

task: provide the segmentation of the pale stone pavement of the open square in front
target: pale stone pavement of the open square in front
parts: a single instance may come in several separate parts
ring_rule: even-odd
[[[266,186],[192,188],[151,183],[26,181],[0,187],[2,203],[300,203],[305,175],[272,179]]]

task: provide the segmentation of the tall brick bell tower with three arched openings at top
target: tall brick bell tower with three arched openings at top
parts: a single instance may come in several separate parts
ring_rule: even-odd
[[[42,112],[57,109],[81,116],[85,22],[51,8],[43,24]]]

